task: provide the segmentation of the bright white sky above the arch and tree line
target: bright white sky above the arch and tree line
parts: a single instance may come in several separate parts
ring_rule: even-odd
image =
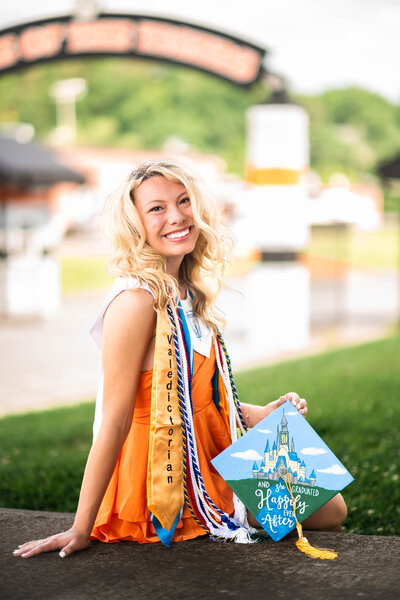
[[[0,27],[70,14],[75,4],[2,2]],[[101,0],[98,5],[103,12],[193,21],[256,42],[269,51],[269,69],[295,92],[358,85],[400,103],[400,0]]]

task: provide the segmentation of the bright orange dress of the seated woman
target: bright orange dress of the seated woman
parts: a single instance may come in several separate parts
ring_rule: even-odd
[[[214,370],[213,345],[210,358],[194,353],[194,431],[206,490],[221,510],[232,514],[232,491],[210,463],[212,458],[231,444],[228,428],[212,398]],[[132,426],[98,511],[90,539],[102,542],[159,541],[150,520],[146,491],[152,375],[152,371],[145,371],[140,375]],[[196,523],[185,505],[172,541],[181,542],[204,534],[204,529]]]

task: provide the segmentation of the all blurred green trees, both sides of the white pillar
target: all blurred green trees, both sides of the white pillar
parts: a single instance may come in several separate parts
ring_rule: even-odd
[[[132,58],[75,59],[36,65],[0,77],[0,120],[32,123],[48,139],[55,121],[54,81],[86,79],[77,104],[78,142],[159,149],[171,137],[225,159],[243,175],[245,111],[265,99],[251,89],[187,67]],[[341,171],[370,179],[377,163],[400,152],[400,106],[350,87],[319,96],[297,95],[310,114],[310,163],[323,180]]]

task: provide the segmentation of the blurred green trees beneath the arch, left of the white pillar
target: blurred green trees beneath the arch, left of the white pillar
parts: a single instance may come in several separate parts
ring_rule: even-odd
[[[190,68],[127,58],[61,61],[3,75],[1,120],[30,122],[46,138],[55,126],[48,90],[69,77],[88,86],[77,106],[80,143],[156,149],[177,136],[243,173],[245,110],[265,96],[261,84],[245,90]]]

